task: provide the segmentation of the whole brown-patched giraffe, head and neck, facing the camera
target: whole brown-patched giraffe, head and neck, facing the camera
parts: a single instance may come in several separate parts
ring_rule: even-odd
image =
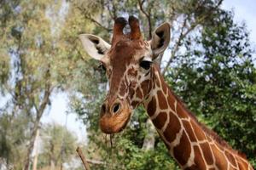
[[[102,132],[119,133],[132,110],[143,105],[182,169],[252,170],[245,156],[197,121],[161,76],[154,60],[168,46],[171,26],[162,24],[150,41],[144,41],[137,18],[130,16],[128,23],[131,32],[124,34],[127,20],[114,21],[111,45],[91,34],[79,36],[85,51],[100,61],[108,77],[109,91],[99,121]]]

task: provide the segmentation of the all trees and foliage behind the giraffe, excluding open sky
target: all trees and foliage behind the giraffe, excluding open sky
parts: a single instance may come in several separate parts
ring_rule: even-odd
[[[163,21],[172,42],[159,59],[172,89],[201,122],[256,166],[256,66],[247,27],[222,0],[0,1],[0,169],[79,169],[66,127],[42,124],[54,94],[67,93],[70,111],[88,132],[92,169],[178,169],[138,108],[124,132],[102,134],[98,113],[106,77],[81,47],[90,32],[109,41],[113,20],[136,15],[144,37]],[[38,130],[40,133],[38,134]],[[41,146],[34,150],[35,141]],[[100,160],[100,161],[95,161]]]

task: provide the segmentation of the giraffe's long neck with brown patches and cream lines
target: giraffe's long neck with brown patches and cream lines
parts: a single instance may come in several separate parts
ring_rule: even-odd
[[[253,169],[247,160],[217,141],[219,137],[215,133],[197,122],[195,116],[168,88],[157,69],[154,69],[152,80],[153,89],[143,105],[160,138],[180,167]]]

